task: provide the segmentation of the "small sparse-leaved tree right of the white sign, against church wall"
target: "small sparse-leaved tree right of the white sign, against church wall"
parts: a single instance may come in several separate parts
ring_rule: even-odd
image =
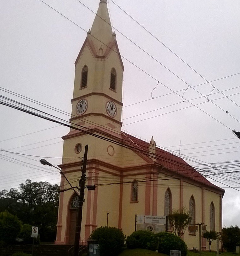
[[[172,210],[172,213],[168,215],[168,221],[172,227],[172,232],[181,237],[191,222],[192,218],[189,216],[189,212],[185,208]]]

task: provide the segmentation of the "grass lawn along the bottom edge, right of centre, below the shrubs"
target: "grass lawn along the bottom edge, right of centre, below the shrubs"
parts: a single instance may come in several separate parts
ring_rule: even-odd
[[[122,253],[118,254],[118,256],[167,256],[163,253],[155,253],[154,251],[146,250],[146,249],[125,249]],[[216,252],[205,252],[202,251],[201,256],[216,256]],[[235,256],[236,254],[225,252],[219,253],[220,256]],[[199,256],[199,253],[193,253],[188,251],[187,256]]]

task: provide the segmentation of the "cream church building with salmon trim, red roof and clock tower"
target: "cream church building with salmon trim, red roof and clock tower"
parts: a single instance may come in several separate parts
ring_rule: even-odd
[[[135,231],[135,215],[167,216],[183,207],[189,210],[192,224],[221,231],[224,190],[182,158],[157,147],[153,137],[147,143],[121,131],[123,70],[107,0],[100,0],[75,61],[70,123],[77,129],[62,137],[59,165],[72,186],[78,187],[88,144],[86,185],[96,188],[85,189],[81,243],[97,227],[117,227],[129,235]],[[69,189],[63,176],[60,189]],[[74,243],[77,207],[72,189],[60,193],[56,244]],[[199,248],[197,232],[186,230],[182,238],[189,249]],[[208,249],[203,238],[202,249]]]

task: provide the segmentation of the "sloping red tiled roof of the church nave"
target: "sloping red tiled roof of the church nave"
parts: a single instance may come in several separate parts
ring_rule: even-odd
[[[122,138],[127,143],[132,144],[136,150],[142,150],[142,154],[149,155],[149,143],[131,136],[125,132],[122,133]],[[222,195],[224,195],[225,190],[219,188],[218,186],[212,184],[204,176],[202,176],[197,170],[185,162],[181,157],[175,156],[168,151],[156,147],[156,163],[162,165],[165,169],[173,172],[173,176],[176,178],[185,177],[189,178],[195,182],[199,182],[205,186],[219,190]]]

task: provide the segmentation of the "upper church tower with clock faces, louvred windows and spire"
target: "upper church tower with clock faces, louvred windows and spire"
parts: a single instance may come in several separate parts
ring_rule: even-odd
[[[75,61],[72,124],[120,133],[123,69],[107,0],[100,0]]]

